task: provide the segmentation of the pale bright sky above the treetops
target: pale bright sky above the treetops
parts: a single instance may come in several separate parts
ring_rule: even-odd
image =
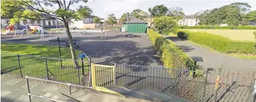
[[[86,4],[93,9],[93,15],[100,18],[107,18],[109,14],[115,14],[116,18],[120,18],[123,13],[131,13],[134,9],[141,9],[148,13],[149,8],[156,5],[164,4],[167,8],[179,7],[183,8],[183,12],[188,14],[195,14],[201,10],[220,8],[231,3],[242,2],[248,3],[252,6],[251,10],[256,10],[256,0],[88,0]]]

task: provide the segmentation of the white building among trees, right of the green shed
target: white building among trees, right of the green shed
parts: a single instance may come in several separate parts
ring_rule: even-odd
[[[196,26],[200,23],[199,19],[194,18],[192,15],[185,15],[179,19],[179,26]]]

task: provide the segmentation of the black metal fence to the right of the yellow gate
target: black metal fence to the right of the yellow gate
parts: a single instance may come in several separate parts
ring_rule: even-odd
[[[195,73],[195,78],[193,78]],[[250,101],[255,72],[184,70],[117,64],[116,85],[174,94],[192,101]],[[216,81],[220,78],[219,81]],[[218,86],[216,86],[216,82]]]

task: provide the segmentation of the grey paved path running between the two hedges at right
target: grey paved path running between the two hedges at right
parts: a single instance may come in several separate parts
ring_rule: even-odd
[[[230,69],[232,71],[243,71],[247,73],[252,73],[256,67],[256,60],[247,60],[235,58],[233,56],[228,56],[221,53],[215,53],[205,49],[201,46],[197,46],[189,41],[181,40],[177,37],[166,37],[171,39],[176,43],[177,46],[180,46],[184,49],[186,54],[189,56],[201,56],[203,57],[203,62],[198,62],[203,65],[204,68],[215,68],[218,69],[218,64],[223,64],[224,69]]]

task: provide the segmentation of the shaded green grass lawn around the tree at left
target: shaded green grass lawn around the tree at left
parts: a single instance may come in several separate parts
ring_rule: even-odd
[[[76,51],[76,54],[80,53],[82,52]],[[21,54],[19,60],[17,54]],[[69,48],[61,47],[61,56],[62,60],[58,58],[58,46],[1,43],[1,73],[20,75],[20,64],[23,76],[38,78],[49,76],[50,79],[55,81],[72,84],[78,84],[80,81],[82,83],[82,61],[78,59],[79,68],[76,68],[72,59],[70,59]],[[84,59],[85,74],[88,73],[88,65],[88,59]],[[48,68],[48,71],[46,71],[46,68]]]

